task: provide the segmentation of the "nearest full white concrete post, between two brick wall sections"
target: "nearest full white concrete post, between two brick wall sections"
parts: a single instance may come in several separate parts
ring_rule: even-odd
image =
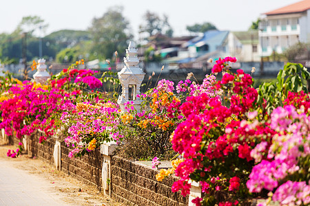
[[[101,144],[100,152],[103,154],[102,187],[105,195],[111,196],[111,156],[118,147],[115,141]]]

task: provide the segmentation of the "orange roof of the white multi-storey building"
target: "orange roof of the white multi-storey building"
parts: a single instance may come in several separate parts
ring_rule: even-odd
[[[276,14],[291,14],[291,13],[299,13],[304,12],[310,9],[310,0],[299,1],[297,3],[293,3],[287,5],[282,8],[278,8],[276,10],[272,10],[270,12],[265,13],[266,15],[276,15]]]

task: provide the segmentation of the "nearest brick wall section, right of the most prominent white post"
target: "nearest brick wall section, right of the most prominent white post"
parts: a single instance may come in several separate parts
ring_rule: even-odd
[[[112,198],[120,203],[141,206],[185,206],[188,203],[188,196],[171,191],[177,180],[175,176],[158,182],[155,177],[158,171],[117,156],[112,157],[111,171]]]

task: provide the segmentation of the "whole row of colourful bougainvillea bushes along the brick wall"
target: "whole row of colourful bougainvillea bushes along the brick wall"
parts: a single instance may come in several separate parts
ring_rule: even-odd
[[[19,139],[40,129],[38,141],[43,143],[62,126],[72,158],[90,157],[106,141],[123,142],[118,151],[123,157],[156,156],[154,167],[158,158],[178,157],[157,180],[175,173],[178,180],[172,192],[180,190],[183,196],[193,181],[200,183],[203,196],[194,199],[196,205],[249,205],[258,196],[266,198],[260,205],[271,200],[280,205],[309,204],[310,96],[305,82],[310,73],[300,64],[288,63],[277,82],[254,89],[251,75],[240,69],[232,73],[229,62],[236,58],[220,58],[212,69],[223,72],[220,81],[211,75],[199,84],[189,74],[175,89],[173,82],[161,80],[138,94],[143,102],[139,111],[128,101],[125,113],[113,95],[85,90],[101,87],[104,81],[95,78],[94,71],[75,69],[79,62],[47,85],[10,80],[0,102],[0,128]],[[105,74],[117,84],[112,73]],[[114,183],[121,180],[114,177]],[[152,184],[156,187],[158,182]],[[118,185],[112,192],[118,190],[127,186]]]

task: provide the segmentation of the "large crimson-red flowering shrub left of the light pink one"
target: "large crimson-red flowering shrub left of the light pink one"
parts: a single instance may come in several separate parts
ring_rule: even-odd
[[[174,183],[172,191],[181,189],[183,195],[189,194],[189,180],[200,181],[203,192],[209,196],[205,198],[209,205],[219,203],[220,198],[216,200],[215,196],[227,199],[228,194],[245,190],[245,171],[252,166],[249,152],[255,139],[247,137],[254,133],[241,122],[247,118],[245,113],[254,110],[258,93],[251,87],[251,76],[240,70],[237,74],[225,73],[222,83],[229,82],[231,106],[223,106],[220,98],[206,93],[188,97],[180,107],[186,120],[176,128],[172,139],[174,150],[185,158],[176,168],[180,180]],[[214,84],[214,88],[219,86]],[[227,169],[232,172],[227,173]],[[229,201],[236,201],[234,198]]]

